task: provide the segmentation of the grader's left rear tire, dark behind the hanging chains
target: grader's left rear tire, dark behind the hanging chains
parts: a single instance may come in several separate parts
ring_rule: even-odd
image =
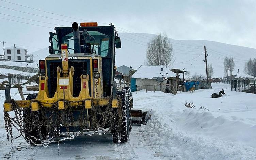
[[[37,97],[37,94],[30,94],[27,96],[26,100],[32,100]],[[38,120],[38,122],[33,121],[32,114]],[[48,132],[45,126],[34,126],[32,124],[39,124],[42,121],[41,111],[31,111],[31,108],[25,108],[23,110],[24,121],[24,135],[27,142],[31,145],[42,144],[41,140],[46,140]],[[29,121],[29,122],[28,122]],[[32,124],[31,124],[32,123]]]

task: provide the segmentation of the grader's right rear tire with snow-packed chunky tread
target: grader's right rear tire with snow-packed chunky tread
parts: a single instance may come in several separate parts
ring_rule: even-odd
[[[128,142],[131,131],[131,96],[130,89],[124,88],[117,91],[117,96],[122,101],[122,124],[121,128],[118,126],[118,117],[114,120],[114,128],[112,129],[113,142],[121,143]],[[116,111],[116,110],[114,110]]]

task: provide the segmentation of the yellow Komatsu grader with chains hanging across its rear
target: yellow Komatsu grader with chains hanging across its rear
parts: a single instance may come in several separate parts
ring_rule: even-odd
[[[111,132],[114,143],[127,142],[131,132],[133,99],[128,87],[116,89],[115,49],[121,48],[116,27],[97,22],[55,27],[50,32],[49,56],[39,61],[39,92],[13,100],[6,85],[4,119],[31,145],[47,145],[85,134]],[[9,112],[14,111],[15,117]],[[145,113],[132,112],[136,123]],[[143,122],[142,122],[143,121]]]

